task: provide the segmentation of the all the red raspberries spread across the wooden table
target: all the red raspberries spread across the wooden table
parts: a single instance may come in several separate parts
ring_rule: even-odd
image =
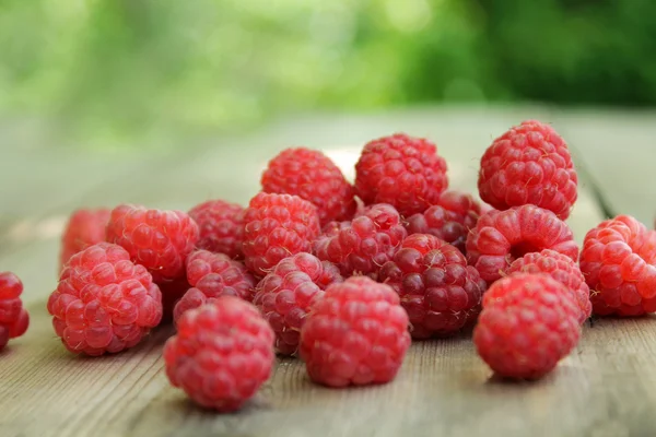
[[[325,386],[385,383],[412,340],[473,329],[493,371],[536,379],[590,314],[656,311],[656,232],[620,215],[579,249],[565,222],[577,175],[551,126],[495,139],[478,188],[482,202],[447,190],[435,144],[403,133],[364,145],[354,184],[321,152],[288,149],[246,208],[77,211],[48,311],[87,355],[173,321],[169,381],[222,412],[258,391],[277,354]],[[16,281],[0,276],[0,345],[26,329]]]

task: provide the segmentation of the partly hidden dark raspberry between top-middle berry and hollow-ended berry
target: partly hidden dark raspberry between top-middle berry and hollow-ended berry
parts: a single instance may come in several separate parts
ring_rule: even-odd
[[[467,234],[481,215],[480,204],[469,194],[447,191],[437,204],[407,218],[408,234],[431,234],[465,253]]]

